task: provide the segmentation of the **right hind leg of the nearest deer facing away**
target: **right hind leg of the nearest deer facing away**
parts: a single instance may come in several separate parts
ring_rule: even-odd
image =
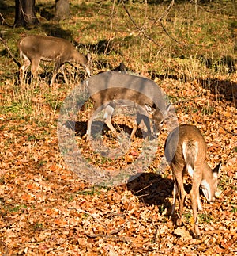
[[[200,184],[201,184],[201,174],[199,174],[197,170],[194,170],[193,185],[190,191],[190,196],[191,196],[193,216],[194,216],[194,230],[195,230],[195,236],[197,239],[199,239],[201,236],[201,233],[198,228],[198,214],[197,214],[197,207],[198,207],[198,204],[200,203],[200,198],[199,198]]]

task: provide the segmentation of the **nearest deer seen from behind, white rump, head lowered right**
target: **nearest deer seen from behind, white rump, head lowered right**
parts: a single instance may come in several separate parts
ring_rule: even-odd
[[[192,178],[192,189],[190,191],[193,215],[194,230],[196,238],[201,233],[198,228],[197,207],[201,210],[199,187],[201,187],[205,198],[209,203],[215,200],[217,178],[220,174],[220,164],[211,170],[208,166],[206,156],[206,143],[199,129],[193,125],[180,125],[175,128],[165,142],[165,156],[169,162],[174,178],[174,199],[171,215],[175,212],[176,197],[179,200],[179,219],[177,226],[182,224],[182,209],[186,198],[183,187],[183,176],[187,172]]]

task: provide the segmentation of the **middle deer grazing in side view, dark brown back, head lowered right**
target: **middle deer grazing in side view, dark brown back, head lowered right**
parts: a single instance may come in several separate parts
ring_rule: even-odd
[[[137,75],[129,75],[122,71],[107,71],[94,75],[87,81],[87,90],[93,101],[93,109],[88,119],[87,136],[91,136],[92,120],[95,113],[104,109],[105,124],[113,136],[118,134],[111,124],[111,117],[116,105],[132,106],[137,109],[137,119],[131,133],[131,139],[137,131],[141,120],[144,120],[151,135],[149,117],[152,119],[156,132],[159,133],[164,125],[164,116],[170,105],[166,105],[165,97],[155,82]]]

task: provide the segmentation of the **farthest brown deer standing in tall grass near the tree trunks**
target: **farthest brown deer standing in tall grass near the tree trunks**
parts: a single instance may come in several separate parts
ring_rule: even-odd
[[[64,63],[77,63],[85,68],[88,76],[91,75],[92,59],[77,52],[69,41],[53,36],[26,36],[19,45],[20,57],[24,58],[24,64],[20,67],[20,81],[23,83],[24,71],[32,64],[32,75],[36,78],[40,67],[40,60],[55,61],[55,68],[50,86],[55,82],[58,70]],[[65,71],[62,70],[65,82],[68,83]]]

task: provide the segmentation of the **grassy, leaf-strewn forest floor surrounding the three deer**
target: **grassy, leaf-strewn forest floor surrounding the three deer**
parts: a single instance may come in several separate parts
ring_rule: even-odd
[[[9,24],[14,5],[0,3]],[[64,126],[84,160],[81,169],[73,168],[61,147],[58,120],[66,97],[80,88],[83,69],[67,65],[69,86],[58,75],[49,88],[52,65],[42,63],[40,82],[20,85],[18,67],[0,44],[0,255],[236,255],[236,4],[72,0],[70,19],[60,22],[47,17],[54,5],[36,1],[40,27],[0,25],[13,55],[18,59],[17,42],[28,34],[59,36],[92,53],[94,75],[123,62],[152,79],[167,94],[179,124],[200,128],[209,166],[222,162],[218,198],[208,204],[201,195],[201,239],[194,239],[189,193],[183,224],[175,228],[173,180],[164,161],[167,124],[158,139],[143,139],[141,127],[129,141],[131,117],[116,113],[113,124],[125,138],[121,153],[119,140],[105,127],[98,143],[85,139],[90,101]],[[153,143],[157,148],[144,171],[139,157]],[[99,184],[101,172],[86,173],[85,163],[112,178],[131,169],[142,174],[117,185]],[[185,184],[189,192],[189,178]]]

